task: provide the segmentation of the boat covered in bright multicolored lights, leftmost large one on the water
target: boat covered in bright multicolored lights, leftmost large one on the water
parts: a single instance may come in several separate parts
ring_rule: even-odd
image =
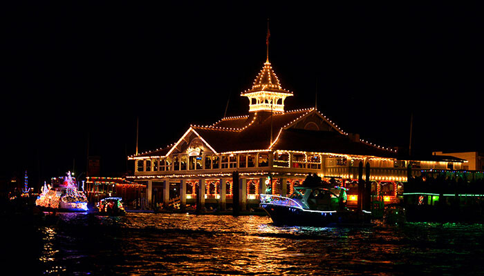
[[[67,172],[66,177],[53,178],[51,184],[44,183],[35,205],[44,210],[64,212],[85,212],[88,210],[86,195],[77,190],[71,172]]]

